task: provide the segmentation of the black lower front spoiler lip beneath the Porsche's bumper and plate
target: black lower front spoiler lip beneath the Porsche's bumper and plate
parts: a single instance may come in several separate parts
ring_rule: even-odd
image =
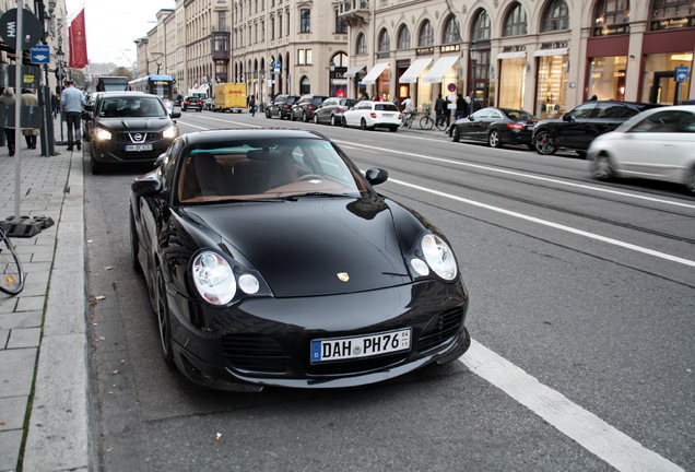
[[[449,343],[446,351],[412,361],[391,368],[366,374],[354,374],[341,378],[258,378],[247,377],[229,368],[208,364],[193,356],[176,342],[173,344],[174,361],[179,370],[192,382],[203,387],[234,392],[260,392],[264,387],[283,387],[298,389],[333,389],[360,387],[381,382],[416,370],[432,363],[445,365],[458,359],[471,345],[471,338],[466,328]]]

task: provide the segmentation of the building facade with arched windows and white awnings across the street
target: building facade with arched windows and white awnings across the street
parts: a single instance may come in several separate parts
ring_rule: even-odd
[[[693,0],[342,0],[339,17],[352,96],[461,93],[541,118],[593,95],[695,98]]]

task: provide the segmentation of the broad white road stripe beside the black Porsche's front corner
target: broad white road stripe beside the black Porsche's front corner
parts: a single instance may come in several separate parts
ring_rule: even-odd
[[[459,361],[619,471],[683,471],[474,340]]]

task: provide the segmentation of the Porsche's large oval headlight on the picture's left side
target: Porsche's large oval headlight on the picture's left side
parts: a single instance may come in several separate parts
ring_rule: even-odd
[[[226,305],[236,295],[236,279],[229,263],[219,253],[203,251],[191,266],[193,283],[200,296],[213,305]]]

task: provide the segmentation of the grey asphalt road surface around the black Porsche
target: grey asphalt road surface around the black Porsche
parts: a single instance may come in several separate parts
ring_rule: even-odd
[[[388,169],[379,191],[453,245],[474,344],[460,362],[367,388],[195,387],[165,367],[130,264],[128,192],[143,169],[86,170],[101,470],[695,470],[695,199],[680,187],[601,184],[572,154],[439,133],[260,114],[178,121],[316,129],[361,168]]]

